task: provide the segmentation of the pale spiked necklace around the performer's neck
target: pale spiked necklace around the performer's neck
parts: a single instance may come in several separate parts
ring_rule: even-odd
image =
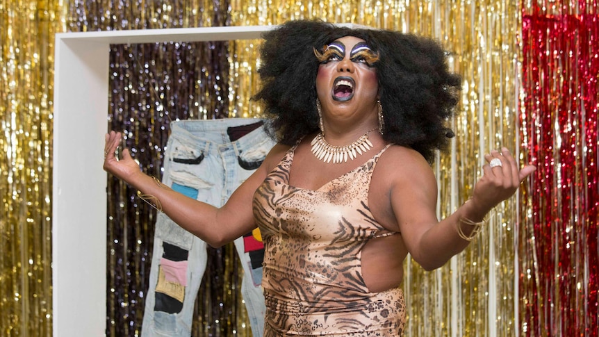
[[[329,142],[325,140],[325,135],[320,131],[310,143],[310,145],[312,145],[312,153],[319,161],[324,161],[325,163],[330,163],[331,161],[333,161],[334,164],[345,163],[347,162],[347,158],[350,158],[350,160],[353,161],[358,154],[363,154],[373,147],[372,142],[368,140],[368,133],[375,130],[377,129],[366,131],[366,133],[355,142],[344,146],[330,145]]]

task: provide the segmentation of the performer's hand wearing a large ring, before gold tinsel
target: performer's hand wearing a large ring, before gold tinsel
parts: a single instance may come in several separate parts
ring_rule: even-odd
[[[486,213],[514,195],[520,183],[530,176],[536,167],[525,165],[520,169],[516,159],[505,147],[501,152],[493,150],[490,154],[485,154],[484,158],[487,164],[482,167],[484,174],[475,185],[471,202],[479,211]]]

